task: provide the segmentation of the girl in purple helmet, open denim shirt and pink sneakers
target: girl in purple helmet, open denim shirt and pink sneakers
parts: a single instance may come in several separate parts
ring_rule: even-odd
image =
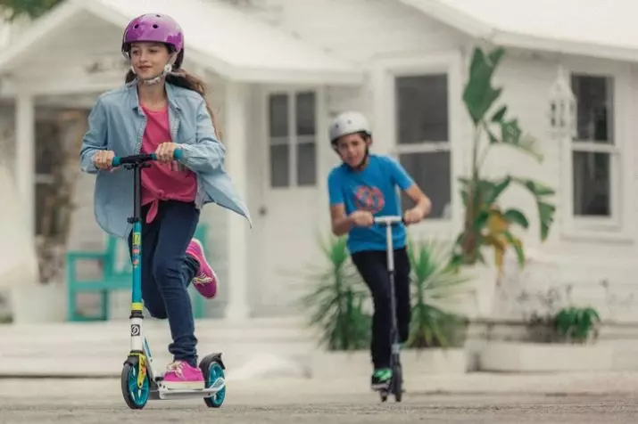
[[[128,23],[120,47],[131,65],[126,84],[95,103],[80,164],[97,174],[98,224],[130,246],[132,173],[112,169],[112,159],[156,153],[157,162],[142,171],[142,298],[153,317],[169,320],[173,362],[165,386],[203,388],[186,287],[192,281],[203,297],[213,298],[218,281],[193,234],[203,205],[213,199],[250,217],[224,170],[226,149],[216,135],[205,87],[181,69],[184,34],[178,23],[162,13],[139,16]],[[179,164],[173,161],[176,149],[182,151]]]

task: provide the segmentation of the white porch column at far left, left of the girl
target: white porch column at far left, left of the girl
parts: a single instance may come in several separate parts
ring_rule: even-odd
[[[15,180],[29,233],[35,235],[36,203],[36,107],[33,94],[19,92],[15,98]]]

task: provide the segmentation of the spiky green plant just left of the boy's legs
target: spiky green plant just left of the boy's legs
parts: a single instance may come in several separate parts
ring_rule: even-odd
[[[301,306],[310,312],[309,324],[319,328],[319,342],[328,350],[367,348],[370,315],[364,303],[368,291],[352,265],[345,238],[330,234],[319,246],[325,264],[313,266],[308,275],[312,289],[301,298]]]

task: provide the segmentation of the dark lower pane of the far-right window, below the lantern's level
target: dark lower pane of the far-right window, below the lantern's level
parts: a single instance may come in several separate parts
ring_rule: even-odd
[[[609,161],[609,153],[574,152],[574,215],[611,215]]]

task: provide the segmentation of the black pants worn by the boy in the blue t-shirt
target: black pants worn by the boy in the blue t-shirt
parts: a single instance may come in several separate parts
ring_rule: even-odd
[[[387,253],[368,250],[352,254],[352,262],[366,281],[372,294],[372,363],[375,369],[390,366],[392,315],[390,276]],[[399,339],[403,343],[410,334],[410,260],[406,249],[394,250],[394,294]]]

